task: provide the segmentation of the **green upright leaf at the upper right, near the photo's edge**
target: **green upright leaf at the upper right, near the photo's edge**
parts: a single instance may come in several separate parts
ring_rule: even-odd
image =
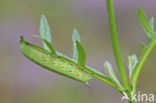
[[[144,30],[144,32],[146,33],[148,40],[153,36],[156,35],[156,33],[152,30],[152,27],[150,26],[148,19],[144,13],[144,11],[141,9],[141,7],[138,8],[138,20]],[[153,21],[151,20],[151,25],[153,24]]]

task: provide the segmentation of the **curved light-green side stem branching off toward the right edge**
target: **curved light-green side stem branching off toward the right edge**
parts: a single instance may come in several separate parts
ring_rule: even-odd
[[[134,93],[136,92],[136,83],[137,83],[137,79],[139,76],[139,73],[147,59],[147,57],[149,56],[150,52],[152,51],[153,47],[156,44],[156,38],[152,38],[148,45],[147,48],[143,51],[143,53],[141,54],[139,61],[136,65],[136,67],[134,68],[133,74],[132,74],[132,85],[133,85],[133,91]]]

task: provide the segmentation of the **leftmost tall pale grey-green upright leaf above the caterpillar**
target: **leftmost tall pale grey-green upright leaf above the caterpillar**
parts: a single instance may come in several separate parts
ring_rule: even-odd
[[[44,15],[41,15],[40,35],[41,35],[42,39],[45,39],[49,43],[52,44],[52,37],[51,37],[51,33],[50,33],[49,24],[48,24],[48,21]],[[46,45],[46,43],[43,40],[42,40],[42,43],[43,43],[44,49],[50,51],[48,46]]]

